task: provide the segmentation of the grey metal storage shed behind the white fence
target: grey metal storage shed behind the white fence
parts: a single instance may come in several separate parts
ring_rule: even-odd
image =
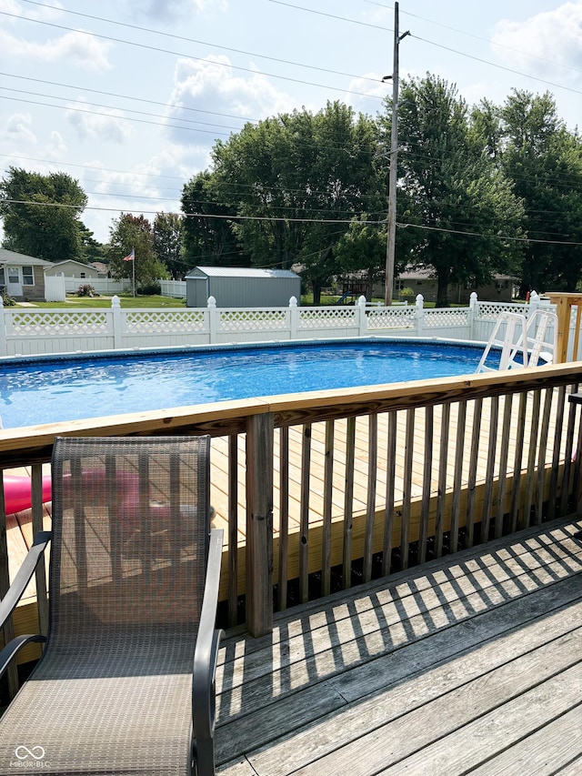
[[[186,275],[186,307],[287,307],[301,301],[301,278],[290,269],[194,267]]]

